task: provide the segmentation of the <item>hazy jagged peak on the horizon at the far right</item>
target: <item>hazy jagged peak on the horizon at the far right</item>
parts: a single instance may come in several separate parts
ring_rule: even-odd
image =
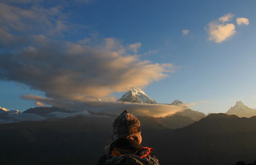
[[[256,110],[245,106],[241,101],[237,101],[235,106],[228,109],[227,114],[236,114],[239,117],[250,118],[256,116]]]

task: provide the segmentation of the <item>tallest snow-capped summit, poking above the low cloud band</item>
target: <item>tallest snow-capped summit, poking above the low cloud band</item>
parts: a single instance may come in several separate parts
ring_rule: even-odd
[[[148,95],[140,88],[132,87],[127,91],[121,98],[117,100],[118,102],[138,102],[146,104],[158,104],[155,100],[148,97]]]

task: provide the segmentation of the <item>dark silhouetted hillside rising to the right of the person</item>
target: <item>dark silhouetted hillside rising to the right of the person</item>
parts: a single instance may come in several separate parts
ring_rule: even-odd
[[[256,117],[210,114],[165,132],[154,148],[162,164],[236,164],[256,158]]]

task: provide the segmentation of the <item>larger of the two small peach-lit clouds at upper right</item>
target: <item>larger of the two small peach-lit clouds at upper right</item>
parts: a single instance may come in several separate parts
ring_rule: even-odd
[[[232,17],[232,14],[227,14],[218,19],[218,21],[209,22],[207,28],[205,28],[209,35],[208,39],[216,43],[221,43],[234,36],[236,34],[236,26],[225,23],[232,19]]]

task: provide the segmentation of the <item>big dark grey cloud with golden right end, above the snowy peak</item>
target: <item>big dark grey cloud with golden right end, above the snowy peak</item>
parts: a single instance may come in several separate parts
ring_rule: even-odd
[[[0,77],[45,92],[49,98],[113,100],[111,93],[144,87],[173,72],[170,63],[141,61],[138,56],[77,43],[47,42],[0,55]],[[110,50],[109,50],[110,49]],[[122,52],[122,51],[121,51]]]

